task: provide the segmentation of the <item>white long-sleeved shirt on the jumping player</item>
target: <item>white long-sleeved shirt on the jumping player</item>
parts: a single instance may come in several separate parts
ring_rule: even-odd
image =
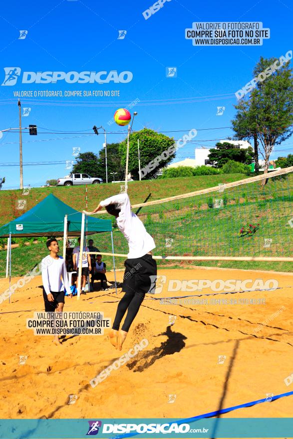
[[[141,220],[131,212],[127,194],[114,195],[100,202],[103,207],[109,204],[117,204],[117,209],[121,209],[116,220],[119,229],[128,241],[129,253],[127,257],[129,259],[144,256],[156,247],[154,239],[146,231]]]

